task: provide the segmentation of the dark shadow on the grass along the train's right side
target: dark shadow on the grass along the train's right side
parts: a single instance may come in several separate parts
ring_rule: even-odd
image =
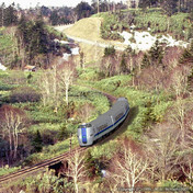
[[[138,114],[138,106],[130,107],[130,111],[126,120],[123,123],[121,123],[113,132],[109,133],[98,141],[95,141],[94,146],[101,146],[111,139],[115,139],[117,136],[121,136],[123,133],[126,132],[128,125],[130,125],[134,122],[137,114]]]

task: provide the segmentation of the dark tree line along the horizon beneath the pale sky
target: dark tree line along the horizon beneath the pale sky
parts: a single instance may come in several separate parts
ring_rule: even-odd
[[[36,7],[34,9],[22,10],[14,3],[5,7],[4,3],[0,5],[0,26],[9,26],[18,24],[21,15],[25,13],[29,19],[33,19],[37,15],[42,15],[44,21],[52,25],[73,23],[82,18],[88,18],[98,12],[116,12],[123,9],[141,8],[146,10],[148,8],[161,8],[163,11],[171,15],[175,12],[189,12],[193,11],[192,0],[127,0],[127,3],[122,1],[118,3],[106,0],[92,0],[91,4],[81,1],[75,8],[61,7],[61,8],[48,8],[45,5]]]

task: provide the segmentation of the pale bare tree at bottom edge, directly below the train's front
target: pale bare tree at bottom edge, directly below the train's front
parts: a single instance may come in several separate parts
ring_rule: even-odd
[[[87,177],[87,170],[84,168],[84,156],[81,152],[76,151],[72,157],[68,158],[68,170],[65,174],[72,179],[75,184],[75,192],[81,192],[81,182]]]

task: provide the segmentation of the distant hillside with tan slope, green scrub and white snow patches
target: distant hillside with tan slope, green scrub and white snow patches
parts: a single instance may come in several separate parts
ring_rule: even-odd
[[[103,48],[109,46],[115,46],[115,49],[122,52],[127,47],[137,53],[147,52],[158,39],[167,47],[188,47],[192,32],[188,14],[179,13],[167,19],[161,11],[152,13],[149,11],[146,14],[138,11],[135,16],[130,16],[133,22],[129,24],[127,14],[127,12],[123,12],[121,15],[117,13],[95,14],[92,18],[79,20],[69,27],[64,26],[64,32],[68,37],[80,43],[87,63],[96,60],[96,56],[102,57]],[[158,16],[159,21],[152,20],[151,14],[154,18]],[[170,25],[167,24],[168,22]],[[58,30],[58,27],[56,29]],[[179,35],[179,31],[183,31],[183,33]]]

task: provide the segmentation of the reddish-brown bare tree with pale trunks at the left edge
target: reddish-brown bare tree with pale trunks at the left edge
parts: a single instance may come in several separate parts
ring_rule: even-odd
[[[9,140],[10,158],[16,158],[19,147],[19,134],[23,132],[26,123],[25,113],[11,105],[0,109],[1,135]]]

